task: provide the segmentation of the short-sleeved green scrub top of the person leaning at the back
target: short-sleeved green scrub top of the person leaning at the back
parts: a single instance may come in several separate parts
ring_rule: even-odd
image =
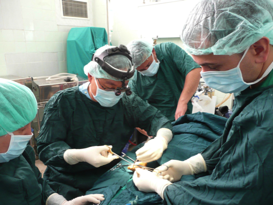
[[[129,82],[129,87],[143,100],[160,110],[170,121],[174,121],[186,75],[200,66],[174,43],[162,43],[156,45],[154,49],[160,61],[157,77],[145,76],[136,71],[134,78]],[[190,100],[185,114],[192,113],[192,110]]]

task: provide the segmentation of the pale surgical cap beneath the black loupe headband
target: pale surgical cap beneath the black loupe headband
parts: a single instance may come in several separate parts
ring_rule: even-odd
[[[109,48],[115,48],[115,47],[116,46],[108,46],[108,45],[102,46],[98,50],[96,50],[95,54],[99,55],[103,51]],[[115,67],[116,69],[119,69],[122,71],[128,71],[128,69],[132,67],[131,60],[124,55],[106,56],[104,57],[104,61],[106,61],[108,64]],[[88,75],[89,73],[91,76],[94,76],[95,78],[105,78],[105,79],[116,80],[116,81],[123,80],[108,74],[95,61],[90,61],[90,63],[85,66],[84,71],[86,75]]]

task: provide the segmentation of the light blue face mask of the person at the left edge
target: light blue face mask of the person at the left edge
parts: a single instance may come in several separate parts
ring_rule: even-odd
[[[8,162],[20,156],[33,136],[33,133],[31,135],[14,135],[12,132],[8,132],[8,134],[11,135],[9,149],[6,153],[0,153],[0,163]]]

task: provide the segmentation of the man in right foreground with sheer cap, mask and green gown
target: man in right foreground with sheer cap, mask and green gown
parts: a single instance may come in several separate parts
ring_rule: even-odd
[[[136,170],[140,191],[165,204],[270,204],[273,201],[273,3],[202,0],[183,29],[184,48],[205,83],[235,93],[223,135],[200,154]],[[209,175],[183,181],[183,175]],[[178,181],[176,183],[173,183]]]

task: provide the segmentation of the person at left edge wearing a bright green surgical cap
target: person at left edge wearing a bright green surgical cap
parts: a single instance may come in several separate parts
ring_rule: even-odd
[[[26,86],[0,78],[0,204],[84,205],[99,203],[102,194],[67,201],[55,193],[35,167],[28,141],[30,122],[37,113],[35,96]]]

